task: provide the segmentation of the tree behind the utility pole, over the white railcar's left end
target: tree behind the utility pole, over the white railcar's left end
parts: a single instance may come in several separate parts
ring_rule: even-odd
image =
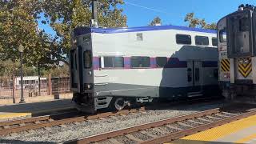
[[[98,0],[98,24],[102,27],[125,27],[126,15],[118,4],[122,0]],[[42,1],[42,10],[46,19],[56,31],[56,48],[58,53],[53,59],[68,63],[66,56],[70,51],[71,31],[77,26],[90,26],[91,1],[89,0],[51,0]]]

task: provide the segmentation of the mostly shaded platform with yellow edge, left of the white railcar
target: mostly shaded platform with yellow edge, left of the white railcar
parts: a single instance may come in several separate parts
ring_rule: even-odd
[[[74,108],[74,102],[71,102],[71,99],[0,106],[0,121],[40,116],[43,114],[54,114],[54,112],[57,111],[72,110]]]

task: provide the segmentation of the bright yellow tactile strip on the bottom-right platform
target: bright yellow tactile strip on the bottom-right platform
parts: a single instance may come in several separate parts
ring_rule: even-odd
[[[243,118],[235,122],[230,122],[222,126],[217,126],[210,130],[205,130],[197,134],[192,134],[171,143],[179,143],[181,142],[181,140],[183,142],[213,142],[214,140],[223,138],[229,134],[233,134],[235,132],[238,132],[239,130],[246,129],[250,126],[256,126],[256,115],[250,116],[248,118]],[[250,136],[250,138],[254,137]],[[238,142],[250,141],[250,138],[242,138]]]

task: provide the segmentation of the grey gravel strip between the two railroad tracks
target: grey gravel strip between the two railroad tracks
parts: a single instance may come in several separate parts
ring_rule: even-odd
[[[182,104],[170,106],[166,110],[146,110],[136,114],[117,116],[106,119],[96,119],[79,124],[66,124],[66,127],[53,126],[50,130],[38,129],[32,132],[21,132],[14,135],[2,135],[0,143],[58,143],[76,138],[84,138],[94,134],[102,134],[112,130],[120,130],[130,126],[155,122],[158,120],[177,117],[184,114],[192,114],[202,110],[210,110],[222,106],[223,102]]]

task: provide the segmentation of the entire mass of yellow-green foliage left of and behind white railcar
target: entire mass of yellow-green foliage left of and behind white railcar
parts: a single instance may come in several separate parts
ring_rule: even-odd
[[[126,15],[118,5],[122,0],[98,0],[98,23],[103,27],[126,26]],[[70,33],[77,26],[89,26],[90,0],[11,0],[0,1],[0,60],[18,62],[18,46],[24,46],[27,66],[58,66],[66,62]],[[44,14],[56,35],[38,30]]]

